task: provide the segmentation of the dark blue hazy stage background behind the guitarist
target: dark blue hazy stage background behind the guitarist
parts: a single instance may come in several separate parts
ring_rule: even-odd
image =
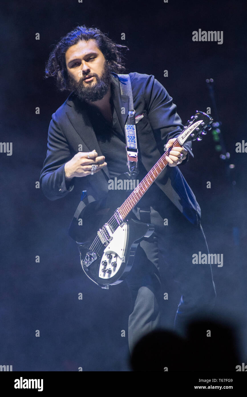
[[[52,113],[69,95],[59,93],[53,79],[44,79],[44,64],[60,37],[83,24],[127,45],[127,73],[153,74],[184,123],[209,106],[215,118],[205,83],[214,79],[230,160],[220,159],[208,133],[193,143],[195,158],[181,171],[201,205],[209,251],[224,255],[222,267],[212,265],[215,315],[236,324],[246,363],[247,153],[236,153],[236,143],[247,140],[246,2],[11,1],[2,6],[0,20],[0,141],[13,143],[11,156],[0,153],[0,364],[12,365],[13,371],[130,370],[125,282],[107,291],[84,276],[76,243],[67,235],[80,197],[72,192],[49,201],[35,187]],[[223,44],[193,42],[198,29],[223,31]],[[35,114],[37,106],[40,114]],[[163,323],[172,328],[180,294],[169,274],[163,288],[169,296]]]

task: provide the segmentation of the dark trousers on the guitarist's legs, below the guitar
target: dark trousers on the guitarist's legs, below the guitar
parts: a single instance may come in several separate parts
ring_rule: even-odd
[[[211,264],[192,263],[193,254],[209,253],[201,225],[192,225],[168,200],[164,209],[159,201],[146,208],[137,204],[132,211],[134,219],[154,224],[155,231],[140,241],[126,278],[132,297],[128,320],[130,353],[138,339],[160,327],[161,302],[164,306],[161,285],[167,269],[181,292],[178,310],[174,313],[174,331],[180,335],[184,335],[190,318],[202,312],[210,313],[216,299]]]

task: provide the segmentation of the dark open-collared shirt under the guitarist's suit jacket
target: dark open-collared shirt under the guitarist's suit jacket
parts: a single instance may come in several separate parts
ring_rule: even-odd
[[[107,162],[110,179],[114,181],[115,177],[128,172],[128,166],[125,133],[121,128],[112,100],[110,100],[110,104],[113,116],[111,123],[103,117],[100,110],[89,104],[86,104],[86,106],[101,152],[103,156],[105,156],[105,161]],[[138,185],[138,181],[139,183],[142,181],[149,171],[145,169],[140,157],[140,148],[138,146],[139,174],[135,178],[137,181],[134,187]],[[128,179],[127,175],[125,179]],[[156,183],[152,183],[136,206],[140,208],[149,208],[150,206],[156,206],[160,200],[163,200],[163,206],[168,202],[168,198],[161,189],[159,189]]]

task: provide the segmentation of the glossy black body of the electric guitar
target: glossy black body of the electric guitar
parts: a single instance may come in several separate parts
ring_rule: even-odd
[[[126,175],[123,175],[126,177]],[[118,179],[121,178],[119,175]],[[80,242],[77,241],[80,252],[80,262],[86,276],[101,288],[121,283],[130,272],[136,248],[142,237],[149,237],[154,227],[134,219],[125,219],[121,225],[107,229],[111,234],[111,241],[102,242],[97,239],[94,247],[90,249],[97,236],[100,226],[106,224],[113,216],[118,203],[122,203],[126,191],[109,191],[104,204],[99,202],[89,203],[80,214],[82,226]],[[108,224],[107,224],[108,226]]]

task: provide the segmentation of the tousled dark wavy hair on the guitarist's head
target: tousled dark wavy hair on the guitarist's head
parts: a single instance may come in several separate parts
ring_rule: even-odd
[[[85,25],[77,26],[59,40],[46,62],[45,77],[55,77],[57,87],[60,91],[69,90],[69,76],[65,63],[67,49],[77,44],[80,40],[88,41],[91,39],[96,40],[98,48],[100,48],[105,59],[108,60],[110,71],[115,73],[125,72],[123,55],[119,50],[123,48],[128,50],[129,48],[127,46],[116,44],[105,33],[102,33],[100,29],[88,28]]]

